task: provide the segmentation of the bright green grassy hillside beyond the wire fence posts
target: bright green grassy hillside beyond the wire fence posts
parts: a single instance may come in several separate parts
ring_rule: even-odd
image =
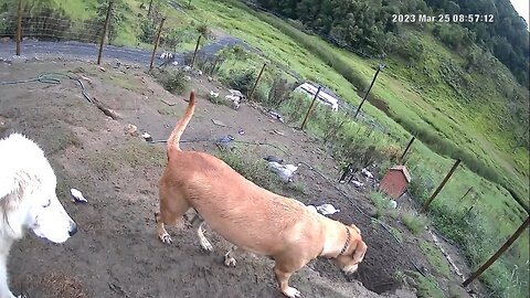
[[[6,1],[0,0],[0,7]],[[187,7],[189,1],[177,2]],[[168,15],[166,30],[183,31],[201,23],[221,29],[261,50],[259,61],[246,67],[255,70],[263,61],[273,61],[306,79],[325,84],[354,105],[359,104],[359,95],[363,94],[378,64],[386,64],[371,92],[373,105],[365,105],[363,110],[385,127],[386,134],[375,135],[385,143],[403,148],[412,135],[418,137],[407,167],[413,180],[421,183],[427,194],[442,181],[454,159],[463,159],[464,166],[436,199],[432,215],[437,228],[462,242],[458,244],[474,268],[528,216],[508,191],[528,206],[529,152],[518,146],[523,136],[521,129],[528,130],[528,89],[490,55],[475,47],[456,54],[428,34],[428,30],[425,33],[404,26],[402,43],[422,49],[414,63],[398,56],[365,60],[239,1],[192,0],[191,3],[191,9],[180,11],[163,6]],[[54,0],[52,4],[63,8],[66,15],[75,20],[96,15],[97,6],[92,1]],[[123,4],[127,8],[123,8],[124,18],[115,43],[138,45],[137,15],[145,14],[146,10],[140,9],[141,1],[137,0],[123,0]],[[179,49],[189,50],[192,44],[190,38]],[[462,55],[474,53],[476,63],[467,65]],[[326,129],[315,126],[310,124],[309,128],[320,132]],[[358,129],[356,124],[351,127]],[[526,136],[528,138],[528,134]],[[469,187],[474,188],[469,195],[473,200],[459,201]],[[469,230],[473,226],[468,230],[463,226],[471,220],[457,221],[474,200],[478,203],[474,211],[476,219],[471,220],[479,224],[478,232]],[[528,283],[528,266],[524,267],[528,254],[527,233],[515,249],[486,272],[484,280],[497,296],[528,297],[526,286],[515,286],[511,275],[517,265],[521,279]]]

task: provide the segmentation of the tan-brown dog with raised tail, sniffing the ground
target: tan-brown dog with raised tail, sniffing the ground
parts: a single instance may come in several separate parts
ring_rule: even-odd
[[[213,156],[180,150],[180,136],[194,104],[192,92],[184,116],[168,139],[168,164],[159,184],[160,212],[155,214],[159,238],[171,243],[163,225],[177,224],[193,207],[213,231],[236,245],[226,253],[226,265],[234,266],[234,255],[245,251],[272,257],[287,297],[300,296],[288,286],[289,277],[316,257],[335,258],[343,272],[356,272],[367,252],[356,225],[347,226],[262,189]],[[211,251],[202,234],[202,220],[195,217],[193,225],[202,247]]]

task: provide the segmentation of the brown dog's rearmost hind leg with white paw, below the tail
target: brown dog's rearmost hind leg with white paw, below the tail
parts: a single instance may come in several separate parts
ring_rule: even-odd
[[[163,225],[176,225],[178,220],[190,209],[190,204],[184,198],[180,198],[178,194],[168,194],[169,192],[166,191],[166,188],[160,187],[160,212],[155,213],[155,220],[157,222],[158,238],[160,238],[162,243],[171,244],[173,241]]]

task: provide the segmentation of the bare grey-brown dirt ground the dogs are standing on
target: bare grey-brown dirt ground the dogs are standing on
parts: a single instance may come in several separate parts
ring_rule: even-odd
[[[153,212],[158,210],[158,179],[166,164],[165,147],[130,136],[126,127],[132,124],[139,132],[148,131],[155,140],[165,140],[186,103],[163,91],[145,68],[105,65],[105,70],[64,61],[0,63],[0,82],[50,72],[83,76],[89,96],[120,116],[105,116],[83,97],[77,83],[67,78],[61,84],[0,86],[0,136],[19,131],[41,145],[57,175],[60,200],[80,228],[63,245],[34,235],[18,242],[9,259],[11,289],[26,291],[31,298],[282,297],[272,260],[246,255],[237,267],[226,268],[222,256],[229,243],[210,231],[206,236],[215,247],[211,254],[200,249],[194,233],[184,224],[169,230],[172,245],[157,238]],[[182,139],[200,141],[184,142],[184,150],[214,152],[215,146],[208,140],[232,135],[237,140],[267,143],[237,145],[244,146],[250,157],[275,155],[289,162],[301,161],[337,180],[335,161],[306,134],[247,105],[237,111],[214,105],[204,95],[218,89],[224,97],[226,91],[204,77],[193,82],[198,106]],[[212,119],[225,126],[214,125]],[[304,297],[415,297],[395,274],[415,270],[411,260],[425,270],[428,263],[417,248],[417,240],[405,241],[401,248],[385,230],[352,205],[370,214],[368,190],[337,184],[350,202],[305,166],[296,180],[305,192],[297,199],[335,204],[341,212],[331,217],[358,225],[369,245],[364,262],[351,277],[326,259],[311,262],[295,274],[292,285]],[[81,190],[88,203],[73,203],[71,188]],[[447,288],[447,281],[439,283]]]

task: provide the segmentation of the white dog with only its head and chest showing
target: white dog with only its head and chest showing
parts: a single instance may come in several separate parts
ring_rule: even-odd
[[[0,298],[14,298],[8,286],[7,259],[24,228],[54,243],[77,232],[55,194],[56,183],[36,143],[19,134],[0,140]]]

